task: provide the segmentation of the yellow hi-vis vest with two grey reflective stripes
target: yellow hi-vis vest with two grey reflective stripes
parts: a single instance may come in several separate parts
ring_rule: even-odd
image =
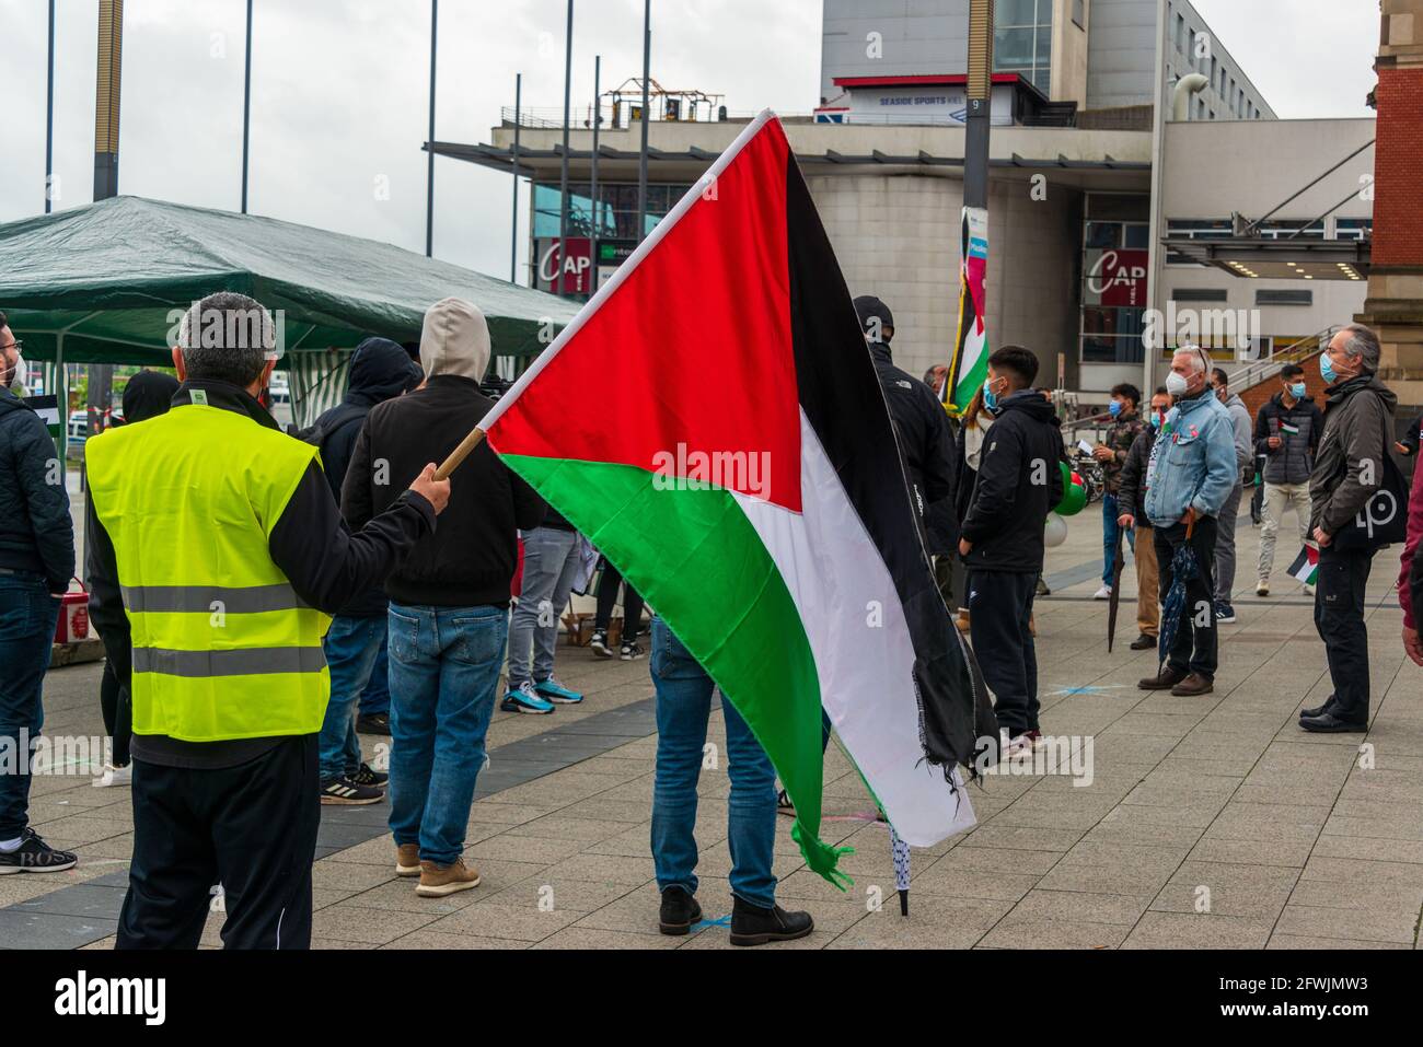
[[[189,404],[84,447],[132,629],[135,734],[221,741],[322,728],[330,617],[268,552],[310,444]]]

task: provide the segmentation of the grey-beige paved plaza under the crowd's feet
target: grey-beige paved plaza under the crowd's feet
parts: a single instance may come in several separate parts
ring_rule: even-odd
[[[1373,726],[1309,735],[1296,710],[1329,694],[1312,600],[1288,579],[1282,528],[1275,595],[1254,596],[1258,532],[1239,529],[1238,623],[1221,626],[1215,693],[1177,698],[1136,689],[1154,652],[1131,652],[1123,600],[1106,650],[1100,506],[1050,549],[1037,603],[1043,730],[1090,738],[1090,784],[1072,774],[996,774],[969,795],[979,825],[914,851],[911,916],[899,915],[888,832],[858,775],[831,745],[824,839],[855,848],[841,893],[808,872],[780,818],[778,899],[815,932],[771,947],[1362,947],[1412,949],[1423,906],[1423,669],[1399,640],[1397,549],[1375,560],[1369,590]],[[1131,569],[1126,593],[1134,596]],[[699,899],[686,937],[657,933],[649,851],[656,733],[647,661],[559,647],[556,669],[588,694],[527,717],[495,711],[465,848],[484,879],[423,899],[396,879],[388,805],[323,808],[314,937],[340,949],[721,949],[731,898],[724,760],[702,777]],[[51,670],[46,731],[102,734],[100,667]],[[720,741],[716,714],[710,740]],[[379,743],[363,737],[367,758]],[[1363,744],[1363,751],[1360,751]],[[724,751],[721,748],[720,751]],[[36,778],[31,821],[77,869],[0,879],[0,947],[114,943],[132,848],[127,788],[81,774]],[[1079,777],[1083,780],[1083,777]],[[875,899],[882,905],[877,906]],[[222,915],[203,940],[219,945]]]

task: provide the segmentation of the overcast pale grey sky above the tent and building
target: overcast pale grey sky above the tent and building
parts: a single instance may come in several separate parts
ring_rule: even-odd
[[[1370,115],[1377,0],[1194,4],[1281,117]],[[57,208],[91,199],[97,7],[58,0]],[[0,0],[0,222],[44,209],[47,10]],[[236,211],[245,1],[124,10],[121,191]],[[525,105],[561,107],[565,10],[444,0],[435,137],[488,141],[519,71]],[[640,74],[642,0],[579,0],[573,28],[575,104],[592,97],[595,54],[605,90]],[[724,94],[733,112],[808,112],[820,28],[820,0],[655,0],[652,75]],[[255,37],[250,211],[423,252],[428,0],[258,0]],[[508,175],[440,159],[435,193],[435,255],[507,277]]]

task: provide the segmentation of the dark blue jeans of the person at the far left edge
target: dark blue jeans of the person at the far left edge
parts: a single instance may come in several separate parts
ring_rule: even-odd
[[[16,761],[0,768],[0,839],[30,824],[30,751],[44,726],[40,693],[58,619],[60,602],[41,575],[0,573],[0,753]]]

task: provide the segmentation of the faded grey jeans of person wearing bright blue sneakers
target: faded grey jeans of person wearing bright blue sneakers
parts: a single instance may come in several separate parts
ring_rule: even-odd
[[[509,687],[554,676],[558,616],[578,573],[578,532],[534,528],[524,532],[524,588],[509,620]],[[534,666],[529,669],[529,647]]]

